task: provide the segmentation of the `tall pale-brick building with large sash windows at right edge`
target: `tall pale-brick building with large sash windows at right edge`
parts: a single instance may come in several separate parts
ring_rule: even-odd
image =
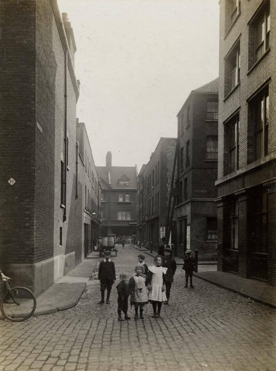
[[[272,285],[275,19],[275,1],[220,1],[217,268]]]

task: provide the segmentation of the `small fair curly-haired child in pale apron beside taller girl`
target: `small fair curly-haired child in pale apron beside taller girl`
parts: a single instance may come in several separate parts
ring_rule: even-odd
[[[135,267],[135,274],[129,280],[130,289],[130,304],[134,305],[135,316],[138,319],[138,308],[140,308],[140,318],[143,319],[143,306],[148,303],[147,289],[146,289],[146,276],[144,275],[143,265]]]

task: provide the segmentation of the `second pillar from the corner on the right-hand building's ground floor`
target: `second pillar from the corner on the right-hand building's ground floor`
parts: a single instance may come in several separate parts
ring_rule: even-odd
[[[249,251],[248,251],[248,209],[249,195],[246,190],[235,194],[239,203],[239,232],[238,232],[238,250],[239,250],[239,275],[245,278],[250,277]]]

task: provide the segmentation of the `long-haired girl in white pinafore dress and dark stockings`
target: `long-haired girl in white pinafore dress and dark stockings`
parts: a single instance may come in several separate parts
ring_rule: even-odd
[[[162,308],[162,302],[166,301],[166,272],[167,268],[161,266],[162,256],[156,255],[154,258],[154,266],[149,267],[147,273],[146,285],[149,290],[149,301],[152,303],[153,317],[159,318]],[[157,313],[156,313],[157,307]]]

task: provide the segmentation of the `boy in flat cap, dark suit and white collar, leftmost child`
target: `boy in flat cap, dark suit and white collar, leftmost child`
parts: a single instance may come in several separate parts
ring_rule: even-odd
[[[100,280],[101,300],[98,304],[104,303],[104,291],[107,289],[106,303],[110,304],[109,296],[113,283],[116,281],[114,263],[110,260],[110,251],[104,252],[104,259],[100,262],[98,279]]]

